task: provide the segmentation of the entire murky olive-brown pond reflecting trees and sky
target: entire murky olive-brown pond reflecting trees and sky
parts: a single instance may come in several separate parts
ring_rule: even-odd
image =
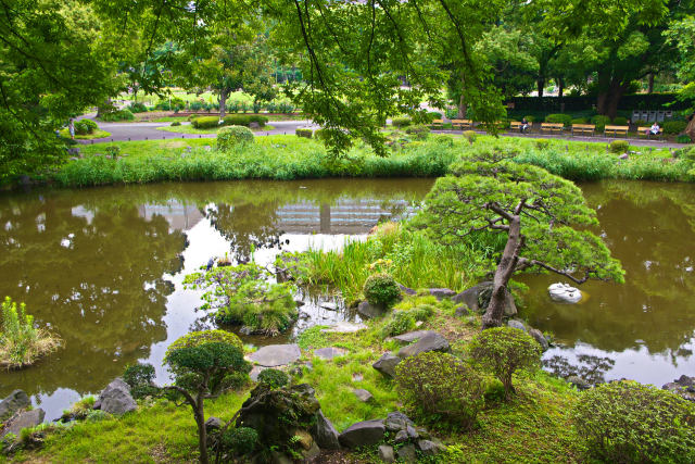
[[[225,253],[253,254],[265,264],[281,250],[339,248],[380,221],[410,214],[432,183],[191,183],[4,193],[0,296],[25,301],[64,348],[29,368],[0,373],[0,398],[22,388],[52,419],[98,393],[127,364],[150,362],[166,381],[166,347],[208,324],[194,311],[200,293],[182,288],[186,274]],[[623,263],[627,283],[584,284],[585,302],[560,305],[546,293],[557,277],[526,276],[531,291],[521,316],[557,342],[546,360],[659,386],[695,372],[695,186],[582,189],[598,209],[597,231]],[[303,311],[311,318],[294,333],[349,317],[315,301]]]

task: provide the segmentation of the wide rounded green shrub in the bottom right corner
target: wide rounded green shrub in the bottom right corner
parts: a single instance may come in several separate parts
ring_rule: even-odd
[[[603,384],[572,411],[592,457],[614,463],[695,462],[695,405],[635,381]]]

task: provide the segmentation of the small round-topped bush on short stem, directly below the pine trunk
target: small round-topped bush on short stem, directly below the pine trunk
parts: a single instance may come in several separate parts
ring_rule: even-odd
[[[541,347],[527,333],[511,327],[483,330],[468,344],[473,363],[491,372],[504,386],[505,397],[511,399],[511,376],[523,368],[538,368]]]

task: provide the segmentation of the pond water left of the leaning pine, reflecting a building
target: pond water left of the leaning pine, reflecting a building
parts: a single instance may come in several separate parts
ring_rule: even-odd
[[[0,196],[0,296],[25,301],[65,341],[37,365],[0,373],[0,397],[34,396],[47,418],[205,326],[185,274],[213,255],[267,263],[309,243],[339,248],[403,215],[429,179],[214,183]],[[288,243],[289,241],[289,243]],[[312,317],[323,318],[311,303]],[[333,312],[336,313],[336,312]],[[338,317],[338,314],[331,316]]]

